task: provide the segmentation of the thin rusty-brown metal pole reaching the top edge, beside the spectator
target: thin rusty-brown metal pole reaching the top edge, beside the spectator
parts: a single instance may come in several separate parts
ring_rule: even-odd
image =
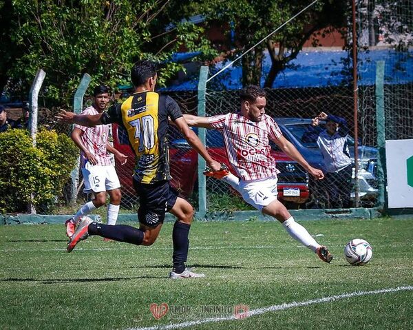
[[[354,207],[359,207],[359,120],[357,86],[357,31],[356,0],[352,0],[352,55],[353,55],[353,100],[354,100]]]

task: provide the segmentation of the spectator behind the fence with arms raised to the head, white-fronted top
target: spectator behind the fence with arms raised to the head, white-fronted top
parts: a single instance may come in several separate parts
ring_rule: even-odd
[[[321,130],[319,121],[326,121]],[[324,157],[326,169],[323,182],[326,206],[332,208],[350,207],[352,190],[352,166],[348,150],[348,125],[344,118],[321,112],[313,118],[301,141],[316,142]]]

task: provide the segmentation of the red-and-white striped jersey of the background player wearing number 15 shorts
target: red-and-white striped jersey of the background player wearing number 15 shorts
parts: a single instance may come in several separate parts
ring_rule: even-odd
[[[94,107],[87,107],[82,114],[98,114],[98,110]],[[74,125],[79,130],[83,131],[82,142],[83,145],[93,154],[98,162],[97,165],[107,166],[112,165],[110,155],[107,152],[107,137],[109,135],[109,125],[97,125],[94,127],[86,127],[81,125]],[[81,152],[81,167],[85,167],[87,158]]]

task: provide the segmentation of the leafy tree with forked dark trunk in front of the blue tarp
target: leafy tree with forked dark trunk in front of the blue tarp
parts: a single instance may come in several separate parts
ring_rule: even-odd
[[[282,25],[287,19],[308,6],[306,0],[201,0],[191,3],[200,10],[209,23],[219,23],[230,32],[235,29],[235,50],[229,52],[229,59],[240,56],[268,34]],[[263,52],[268,50],[271,69],[265,77],[264,87],[272,87],[282,70],[297,57],[304,43],[315,36],[314,45],[319,45],[317,34],[329,33],[346,27],[348,1],[322,0],[288,23],[242,58],[242,83],[260,85]],[[324,32],[319,32],[324,29]]]

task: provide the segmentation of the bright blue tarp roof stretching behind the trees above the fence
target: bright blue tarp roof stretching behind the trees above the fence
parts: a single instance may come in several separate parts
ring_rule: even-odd
[[[281,72],[273,84],[273,88],[300,88],[300,87],[326,87],[340,85],[352,80],[352,73],[348,72],[348,52],[344,50],[332,51],[301,51],[297,58],[288,63],[288,68]],[[376,61],[385,61],[385,83],[413,82],[413,50],[409,52],[396,52],[394,50],[361,51],[358,55],[359,84],[373,85],[376,75]],[[227,61],[218,63],[215,72],[226,65]],[[350,59],[351,63],[351,59]],[[264,56],[263,78],[271,67],[268,53]],[[242,69],[240,66],[227,68],[211,80],[227,89],[242,88]],[[208,85],[207,85],[208,86]],[[190,81],[182,81],[162,90],[197,90],[198,77]]]

